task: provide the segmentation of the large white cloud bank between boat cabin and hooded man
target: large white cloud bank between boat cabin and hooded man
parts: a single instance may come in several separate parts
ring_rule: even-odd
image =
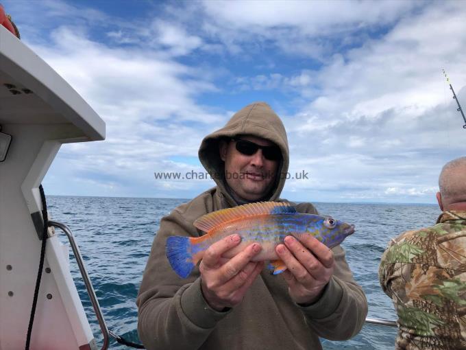
[[[197,156],[203,129],[225,120],[224,115],[196,104],[197,95],[217,89],[197,69],[159,57],[151,49],[108,47],[69,27],[58,28],[51,38],[51,45],[30,46],[107,124],[106,141],[62,147],[58,158],[79,170],[67,174],[69,180],[75,178],[106,195],[131,196],[127,187],[155,187],[157,193],[167,184],[156,182],[154,172],[177,170],[167,167],[164,159]],[[93,174],[97,178],[86,178]],[[186,187],[193,186],[182,185]],[[151,195],[147,191],[139,195],[144,194]]]

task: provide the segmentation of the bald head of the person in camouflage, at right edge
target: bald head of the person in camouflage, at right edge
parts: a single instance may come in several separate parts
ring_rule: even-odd
[[[437,200],[442,210],[466,207],[466,156],[446,163],[439,176]]]

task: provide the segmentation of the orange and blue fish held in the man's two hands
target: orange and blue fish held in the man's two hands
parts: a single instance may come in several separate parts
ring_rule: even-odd
[[[305,235],[312,235],[328,248],[333,248],[354,233],[352,224],[327,216],[298,213],[288,202],[255,202],[221,209],[201,216],[193,224],[206,234],[200,237],[172,235],[165,245],[171,268],[182,278],[191,275],[208,247],[235,233],[241,236],[241,243],[223,257],[234,257],[256,242],[262,250],[252,261],[270,261],[273,275],[286,270],[275,252],[275,247],[282,244],[286,236],[302,240]]]

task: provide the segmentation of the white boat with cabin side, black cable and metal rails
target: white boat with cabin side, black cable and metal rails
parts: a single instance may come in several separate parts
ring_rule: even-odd
[[[106,124],[19,40],[13,25],[0,24],[0,350],[107,349],[110,336],[127,344],[106,326],[73,234],[48,218],[40,185],[62,144],[103,140]],[[71,277],[69,246],[58,239],[62,233],[93,304],[102,345]]]

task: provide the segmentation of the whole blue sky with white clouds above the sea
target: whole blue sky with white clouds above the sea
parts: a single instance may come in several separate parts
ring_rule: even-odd
[[[282,198],[434,203],[465,155],[463,1],[0,0],[21,40],[106,122],[63,145],[47,194],[194,198],[197,150],[265,101],[288,133]],[[199,176],[201,177],[201,176]]]

